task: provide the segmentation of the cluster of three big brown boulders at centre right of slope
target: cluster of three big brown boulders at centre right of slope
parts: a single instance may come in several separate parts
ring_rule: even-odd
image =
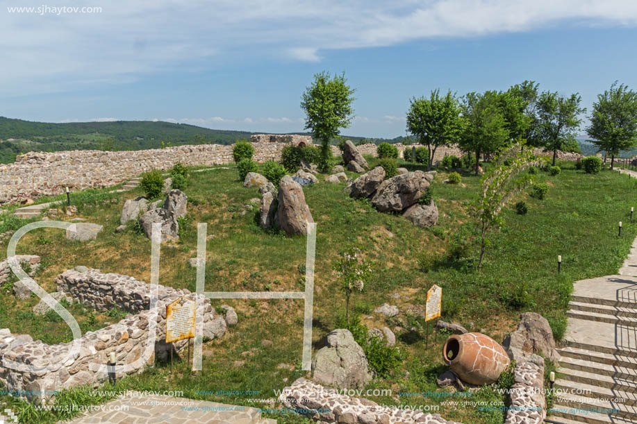
[[[414,225],[430,227],[438,222],[438,207],[418,201],[429,189],[436,171],[401,173],[385,179],[385,170],[376,167],[352,181],[345,192],[353,198],[369,198],[380,212],[398,212]]]

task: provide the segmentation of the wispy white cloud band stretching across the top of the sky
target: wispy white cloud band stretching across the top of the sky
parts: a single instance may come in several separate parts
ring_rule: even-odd
[[[67,0],[65,6],[85,5]],[[60,16],[0,10],[2,62],[11,64],[0,67],[6,82],[0,95],[131,83],[233,56],[316,62],[319,51],[325,56],[332,49],[558,24],[637,24],[632,0],[192,0],[187,6],[114,0],[101,7],[101,13]]]

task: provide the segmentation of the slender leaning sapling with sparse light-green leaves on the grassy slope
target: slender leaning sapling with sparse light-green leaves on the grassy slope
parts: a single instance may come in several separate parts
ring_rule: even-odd
[[[536,164],[537,160],[528,149],[524,151],[523,146],[524,142],[520,141],[500,152],[493,160],[493,167],[481,180],[482,191],[474,209],[481,232],[478,268],[482,266],[488,232],[504,223],[499,216],[502,208],[516,193],[533,182],[533,176],[522,174],[522,171]]]

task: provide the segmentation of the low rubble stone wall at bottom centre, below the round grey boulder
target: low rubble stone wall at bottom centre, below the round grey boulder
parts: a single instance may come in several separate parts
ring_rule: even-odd
[[[279,400],[284,406],[321,423],[361,424],[457,424],[439,414],[428,414],[417,409],[383,407],[372,400],[354,398],[336,389],[299,378],[281,391]]]

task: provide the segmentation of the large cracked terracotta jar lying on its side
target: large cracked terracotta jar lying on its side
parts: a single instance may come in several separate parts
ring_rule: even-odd
[[[454,334],[442,346],[442,359],[470,384],[495,382],[511,360],[497,342],[479,332]]]

